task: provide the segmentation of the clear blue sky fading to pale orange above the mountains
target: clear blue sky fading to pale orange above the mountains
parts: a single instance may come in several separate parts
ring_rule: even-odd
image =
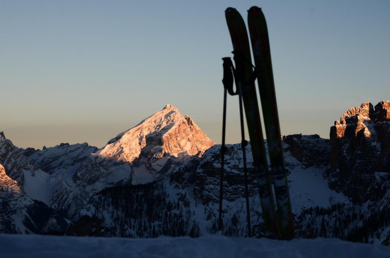
[[[282,135],[390,100],[390,1],[0,1],[0,131],[103,147],[166,104],[221,142],[224,11],[262,7]],[[236,96],[227,143],[241,141]],[[248,134],[246,134],[248,136]]]

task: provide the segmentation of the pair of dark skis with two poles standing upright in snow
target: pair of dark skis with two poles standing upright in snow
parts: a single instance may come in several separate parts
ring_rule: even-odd
[[[220,185],[220,218],[219,226],[222,228],[222,194],[223,194],[223,163],[225,154],[225,116],[226,116],[226,92],[230,95],[239,95],[242,149],[244,155],[244,172],[246,184],[246,160],[245,137],[243,131],[242,102],[245,109],[245,117],[248,126],[251,150],[254,161],[253,176],[257,180],[261,202],[262,215],[266,237],[273,239],[295,238],[291,201],[287,183],[287,170],[284,165],[282,141],[280,138],[280,126],[276,104],[275,86],[271,64],[271,52],[269,48],[268,29],[264,14],[259,7],[251,7],[248,10],[248,27],[254,53],[255,69],[251,61],[250,46],[246,26],[239,12],[234,8],[225,11],[227,26],[233,43],[235,68],[230,58],[224,61],[224,108],[223,108],[223,138],[222,138],[222,171]],[[234,74],[234,79],[233,79]],[[269,159],[271,171],[268,169],[264,139],[260,120],[259,106],[257,102],[255,79],[259,84],[260,100],[264,125],[266,129]],[[236,82],[237,92],[233,91],[233,80]],[[241,102],[242,101],[242,102]],[[275,210],[274,194],[271,187],[271,178],[275,189],[277,210]],[[246,208],[248,219],[248,236],[251,235],[248,188],[246,184]]]

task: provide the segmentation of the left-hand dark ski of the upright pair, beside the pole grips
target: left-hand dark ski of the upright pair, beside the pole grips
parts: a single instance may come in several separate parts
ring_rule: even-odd
[[[278,222],[276,218],[271,182],[268,175],[268,165],[264,140],[261,129],[259,105],[257,103],[256,88],[253,77],[251,54],[248,33],[243,18],[239,12],[229,7],[225,11],[225,18],[233,44],[234,62],[236,64],[235,81],[241,88],[245,117],[248,125],[249,138],[254,161],[253,175],[257,180],[261,209],[264,219],[266,237],[279,238]]]

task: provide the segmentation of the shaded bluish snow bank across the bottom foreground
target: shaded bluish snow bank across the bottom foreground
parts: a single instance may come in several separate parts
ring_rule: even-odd
[[[0,234],[1,257],[390,257],[390,248],[339,239],[234,238],[208,235],[126,239]]]

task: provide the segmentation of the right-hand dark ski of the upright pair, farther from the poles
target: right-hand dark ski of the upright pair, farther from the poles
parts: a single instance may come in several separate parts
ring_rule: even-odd
[[[282,239],[289,240],[295,238],[295,231],[287,182],[287,170],[284,165],[282,140],[280,138],[268,29],[261,8],[253,6],[248,10],[248,28],[266,129],[271,176],[275,186],[279,229]]]

